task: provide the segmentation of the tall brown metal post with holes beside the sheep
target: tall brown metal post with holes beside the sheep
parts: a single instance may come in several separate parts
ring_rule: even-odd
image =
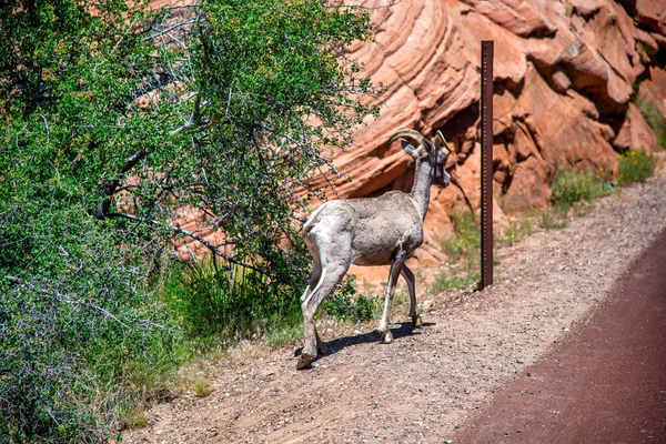
[[[493,285],[493,40],[481,42],[481,290]]]

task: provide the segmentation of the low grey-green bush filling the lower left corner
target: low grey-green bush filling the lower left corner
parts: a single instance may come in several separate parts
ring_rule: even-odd
[[[80,208],[18,203],[0,199],[0,436],[104,442],[173,365],[178,331],[135,249]]]

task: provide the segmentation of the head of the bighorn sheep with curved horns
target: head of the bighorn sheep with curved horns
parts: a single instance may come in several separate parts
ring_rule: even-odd
[[[451,154],[451,149],[441,131],[436,132],[433,143],[416,130],[398,130],[391,137],[389,143],[398,138],[403,138],[401,142],[403,150],[416,162],[427,162],[433,182],[443,188],[448,186],[451,175],[444,170],[444,165],[446,164],[446,158]],[[406,139],[417,142],[418,147],[414,148]]]

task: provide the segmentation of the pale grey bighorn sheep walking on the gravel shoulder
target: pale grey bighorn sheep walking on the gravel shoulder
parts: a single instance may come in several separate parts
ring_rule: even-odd
[[[387,323],[398,273],[407,281],[412,325],[421,327],[421,319],[416,313],[414,274],[405,261],[423,242],[423,221],[427,212],[431,182],[447,186],[451,181],[444,170],[451,150],[440,131],[434,143],[415,130],[400,130],[389,143],[397,138],[403,138],[402,148],[416,164],[412,192],[391,191],[376,198],[330,201],[316,209],[303,225],[303,238],[313,258],[313,270],[301,297],[305,345],[296,369],[307,366],[317,352],[324,353],[324,343],[314,324],[314,313],[352,263],[391,265],[384,312],[377,329],[383,343],[393,341]],[[418,148],[404,139],[416,141]]]

